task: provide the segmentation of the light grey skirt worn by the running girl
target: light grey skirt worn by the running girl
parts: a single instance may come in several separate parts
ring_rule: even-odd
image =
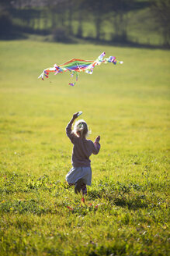
[[[72,167],[65,178],[68,183],[75,184],[78,180],[83,179],[85,184],[91,185],[92,169],[91,167]]]

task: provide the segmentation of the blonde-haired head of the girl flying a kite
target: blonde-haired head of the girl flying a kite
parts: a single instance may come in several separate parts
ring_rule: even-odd
[[[85,123],[85,120],[81,119],[75,122],[75,126],[73,128],[73,133],[77,135],[78,137],[85,138],[88,136],[88,125]]]

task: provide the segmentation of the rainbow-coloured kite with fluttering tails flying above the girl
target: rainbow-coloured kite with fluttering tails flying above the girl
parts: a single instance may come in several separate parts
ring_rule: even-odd
[[[123,63],[123,62],[116,61],[116,57],[113,57],[113,56],[109,56],[109,58],[104,58],[105,55],[106,53],[102,52],[102,54],[99,55],[99,57],[95,61],[83,60],[83,59],[71,59],[70,61],[65,62],[64,64],[61,64],[59,66],[54,64],[54,67],[44,69],[43,73],[41,73],[38,78],[41,78],[42,80],[43,80],[43,76],[46,76],[48,78],[48,75],[50,72],[53,72],[54,75],[57,75],[57,73],[64,73],[66,71],[70,71],[71,77],[74,76],[74,74],[76,74],[76,81],[77,81],[78,72],[85,72],[88,74],[92,74],[94,67],[99,66],[102,63],[106,64],[108,62],[113,62],[113,64],[115,65],[116,63],[120,63],[120,64]],[[74,86],[75,83],[73,84],[70,83],[69,85]]]

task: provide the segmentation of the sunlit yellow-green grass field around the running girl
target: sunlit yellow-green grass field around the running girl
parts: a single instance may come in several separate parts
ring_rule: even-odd
[[[168,255],[170,52],[1,41],[0,254]],[[54,63],[116,55],[75,87]],[[65,183],[82,110],[101,151],[85,204]]]

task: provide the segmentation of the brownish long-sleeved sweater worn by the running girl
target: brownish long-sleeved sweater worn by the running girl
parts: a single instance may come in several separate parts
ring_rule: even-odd
[[[97,155],[100,150],[100,144],[95,140],[86,140],[82,137],[77,137],[75,133],[71,133],[71,126],[73,122],[68,123],[66,127],[66,134],[68,135],[71,143],[74,144],[72,151],[71,164],[73,167],[90,167],[90,155]]]

